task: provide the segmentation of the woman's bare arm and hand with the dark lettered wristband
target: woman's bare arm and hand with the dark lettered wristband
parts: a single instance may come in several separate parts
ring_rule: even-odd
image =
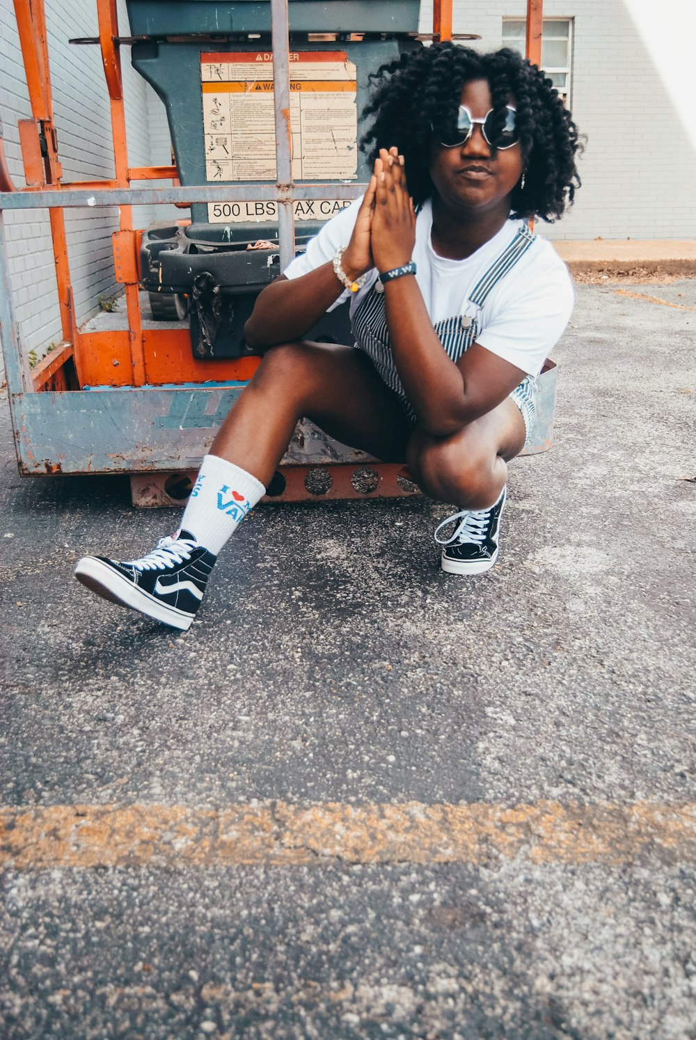
[[[415,215],[403,160],[381,153],[371,244],[381,272],[411,259]],[[485,415],[526,374],[475,343],[455,364],[433,329],[413,275],[387,282],[384,290],[389,339],[404,389],[427,433],[447,437]]]

